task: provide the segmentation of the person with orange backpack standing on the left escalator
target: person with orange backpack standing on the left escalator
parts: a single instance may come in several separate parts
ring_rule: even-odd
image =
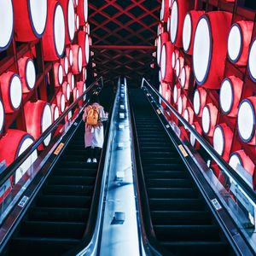
[[[84,109],[83,120],[85,122],[84,146],[88,153],[86,162],[96,163],[104,142],[102,122],[107,120],[96,93],[90,97],[90,105]]]

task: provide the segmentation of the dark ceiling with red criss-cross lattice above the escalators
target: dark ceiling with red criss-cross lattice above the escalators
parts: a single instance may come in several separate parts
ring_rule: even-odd
[[[92,70],[105,84],[120,75],[139,86],[150,79],[154,39],[160,16],[160,0],[89,1]],[[95,66],[95,67],[94,67]]]

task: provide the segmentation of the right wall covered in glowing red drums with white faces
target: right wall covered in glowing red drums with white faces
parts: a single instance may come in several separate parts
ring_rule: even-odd
[[[244,167],[239,174],[254,189],[255,14],[237,1],[163,0],[155,40],[162,96],[234,172]],[[199,149],[195,137],[186,135]],[[218,166],[212,168],[219,177]]]

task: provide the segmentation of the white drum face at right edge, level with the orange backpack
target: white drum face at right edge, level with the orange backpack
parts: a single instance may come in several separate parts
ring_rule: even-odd
[[[241,139],[249,142],[255,131],[255,112],[248,100],[243,100],[240,104],[237,125]]]

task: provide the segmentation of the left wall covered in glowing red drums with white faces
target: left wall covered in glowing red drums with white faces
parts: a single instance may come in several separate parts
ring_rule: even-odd
[[[9,166],[84,92],[90,44],[87,0],[0,1],[0,161]]]

